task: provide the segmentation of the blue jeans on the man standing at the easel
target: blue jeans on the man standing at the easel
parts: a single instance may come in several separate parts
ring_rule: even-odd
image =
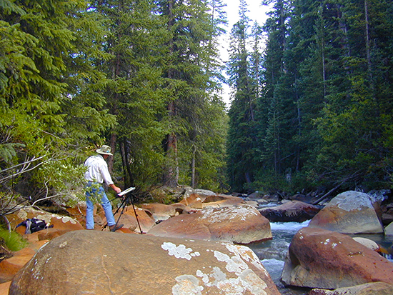
[[[86,184],[87,187],[91,186],[91,182]],[[108,226],[113,226],[116,224],[116,221],[114,221],[114,214],[112,212],[112,205],[111,202],[109,201],[108,197],[105,194],[104,188],[102,186],[99,187],[99,189],[91,188],[91,191],[86,190],[86,229],[94,229],[94,217],[93,217],[93,211],[94,211],[94,204],[92,201],[90,201],[89,196],[91,195],[96,195],[98,194],[99,196],[102,196],[101,198],[101,205],[102,208],[104,208],[105,211],[105,216],[106,216],[106,222],[108,223]]]

